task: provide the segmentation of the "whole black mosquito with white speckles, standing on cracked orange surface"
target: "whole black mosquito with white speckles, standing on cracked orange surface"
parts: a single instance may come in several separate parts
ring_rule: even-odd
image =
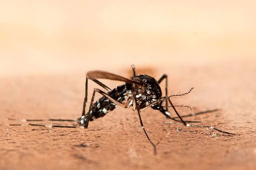
[[[196,123],[198,121],[185,122],[182,119],[182,117],[179,115],[175,107],[188,107],[188,106],[174,106],[170,98],[174,96],[184,96],[190,93],[193,88],[191,88],[188,92],[184,94],[168,96],[168,80],[167,80],[168,76],[166,74],[162,75],[161,78],[157,81],[152,76],[148,76],[145,74],[136,74],[134,65],[132,65],[132,72],[133,72],[133,76],[130,77],[130,79],[125,78],[123,76],[119,76],[117,74],[112,74],[110,72],[100,71],[100,70],[87,72],[86,82],[85,82],[85,98],[84,98],[82,116],[77,120],[74,120],[74,119],[49,119],[49,120],[50,121],[77,121],[80,127],[82,126],[84,128],[88,128],[89,121],[94,121],[95,119],[104,117],[107,113],[109,113],[110,111],[113,111],[118,106],[121,106],[124,108],[132,107],[133,111],[137,111],[138,113],[140,125],[148,141],[151,143],[151,145],[154,148],[154,154],[156,154],[156,145],[151,141],[150,137],[148,136],[140,116],[140,111],[148,107],[151,107],[154,110],[160,111],[168,119],[172,119],[174,121],[180,121],[186,127],[210,128],[215,131],[219,131],[221,133],[225,133],[228,135],[237,135],[235,133],[229,133],[226,131],[216,129],[215,127],[212,127],[209,125],[207,126],[190,125],[188,123]],[[114,89],[111,89],[97,79],[116,80],[116,81],[121,81],[125,83],[120,86],[117,86]],[[86,104],[88,100],[88,80],[92,80],[96,84],[100,85],[102,88],[107,90],[107,92],[104,92],[98,88],[94,88],[90,106],[88,111],[86,112]],[[161,82],[163,82],[163,80],[165,80],[164,96],[162,96],[162,90],[159,85]],[[102,97],[94,102],[94,97],[96,93],[101,94]],[[165,106],[163,106],[164,102],[165,102]],[[178,117],[171,117],[171,113],[168,110],[168,107],[169,107],[168,104],[170,104],[170,107],[174,110],[174,112]],[[216,111],[216,110],[213,110],[213,111]],[[179,118],[179,120],[176,118]],[[27,121],[42,121],[42,120],[27,120]],[[44,125],[31,124],[31,123],[29,125],[44,126]],[[52,127],[76,128],[77,126],[53,125]]]

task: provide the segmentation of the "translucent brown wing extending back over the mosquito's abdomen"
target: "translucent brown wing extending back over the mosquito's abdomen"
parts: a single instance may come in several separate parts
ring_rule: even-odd
[[[118,76],[116,74],[112,74],[112,73],[106,72],[106,71],[100,71],[100,70],[89,71],[89,72],[87,72],[86,76],[88,76],[88,78],[95,78],[95,79],[96,78],[104,78],[104,79],[108,79],[108,80],[128,82],[128,83],[132,83],[132,84],[142,84],[140,82],[136,82],[134,80],[130,80],[128,78]]]

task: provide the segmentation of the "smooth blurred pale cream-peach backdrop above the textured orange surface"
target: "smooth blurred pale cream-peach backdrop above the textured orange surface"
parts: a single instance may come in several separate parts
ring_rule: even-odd
[[[251,60],[255,6],[252,0],[0,0],[0,76]]]

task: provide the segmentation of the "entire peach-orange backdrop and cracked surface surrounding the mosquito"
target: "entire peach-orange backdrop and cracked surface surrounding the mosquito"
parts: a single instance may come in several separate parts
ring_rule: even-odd
[[[255,8],[255,0],[0,0],[0,169],[256,169]],[[129,76],[131,64],[157,80],[168,74],[168,95],[194,87],[174,104],[219,109],[185,121],[240,136],[184,127],[148,108],[141,115],[153,156],[132,109],[118,107],[89,129],[7,120],[76,119],[86,72]],[[103,89],[89,82],[88,99],[93,88]]]

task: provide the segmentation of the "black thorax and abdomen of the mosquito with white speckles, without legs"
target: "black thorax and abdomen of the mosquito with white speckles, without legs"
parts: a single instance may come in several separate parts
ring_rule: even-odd
[[[162,97],[161,88],[153,77],[137,74],[132,77],[132,80],[141,84],[126,82],[107,93],[109,97],[119,104],[115,104],[110,98],[103,96],[92,105],[86,115],[79,119],[78,123],[81,126],[84,126],[86,125],[85,122],[87,119],[89,119],[89,121],[93,121],[99,117],[104,117],[118,105],[126,108],[132,107],[134,111],[137,109],[136,107],[138,107],[141,111],[148,106],[152,106],[154,102],[158,101]],[[133,93],[133,91],[135,91],[135,93]],[[135,105],[134,97],[136,98],[137,105]]]

